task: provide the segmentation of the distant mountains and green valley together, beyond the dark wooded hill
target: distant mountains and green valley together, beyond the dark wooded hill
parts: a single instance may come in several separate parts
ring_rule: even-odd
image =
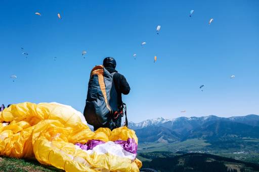
[[[162,118],[134,126],[139,138],[138,155],[173,157],[186,153],[206,153],[259,163],[259,116],[219,118]]]

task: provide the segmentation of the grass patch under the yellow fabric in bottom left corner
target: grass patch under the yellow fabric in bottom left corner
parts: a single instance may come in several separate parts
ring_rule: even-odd
[[[42,165],[35,159],[0,157],[0,171],[63,171],[54,166]]]

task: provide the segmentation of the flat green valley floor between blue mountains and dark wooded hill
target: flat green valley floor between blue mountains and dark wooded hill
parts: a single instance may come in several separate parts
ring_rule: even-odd
[[[236,148],[236,147],[220,148],[218,146],[214,146],[209,143],[206,143],[206,140],[202,140],[202,139],[188,139],[183,142],[175,142],[175,143],[144,142],[144,143],[139,143],[138,153],[139,153],[139,158],[144,161],[151,160],[150,158],[147,158],[145,154],[146,155],[149,154],[149,156],[151,157],[164,157],[164,155],[162,155],[159,152],[172,152],[175,155],[178,155],[181,153],[198,152],[198,153],[209,153],[209,154],[214,154],[219,156],[235,158],[242,161],[259,163],[259,149],[257,149],[254,146],[254,143],[257,143],[257,142],[259,145],[259,139],[243,138],[242,142],[248,143],[248,144],[244,144],[244,146],[241,145],[242,148]],[[252,143],[251,146],[249,143]],[[154,155],[154,152],[156,152],[156,155]]]

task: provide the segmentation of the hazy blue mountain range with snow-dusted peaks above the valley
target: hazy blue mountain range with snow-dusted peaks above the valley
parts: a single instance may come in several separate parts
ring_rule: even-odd
[[[137,124],[130,122],[128,127],[136,131],[139,142],[173,143],[191,138],[215,142],[226,138],[259,138],[259,116],[256,114],[230,118],[157,118]]]

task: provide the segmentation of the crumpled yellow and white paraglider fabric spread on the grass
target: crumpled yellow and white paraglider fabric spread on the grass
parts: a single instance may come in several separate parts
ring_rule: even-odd
[[[35,157],[40,163],[66,171],[139,171],[140,160],[115,144],[138,138],[121,127],[90,130],[82,114],[58,103],[19,103],[0,112],[0,155]],[[9,124],[8,124],[9,123]],[[75,143],[100,140],[104,144],[83,150]]]

